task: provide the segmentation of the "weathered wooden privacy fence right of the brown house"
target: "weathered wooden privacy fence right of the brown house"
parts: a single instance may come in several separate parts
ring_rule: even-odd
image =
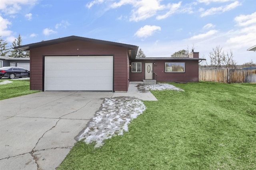
[[[256,83],[256,70],[199,69],[199,80],[223,83]]]

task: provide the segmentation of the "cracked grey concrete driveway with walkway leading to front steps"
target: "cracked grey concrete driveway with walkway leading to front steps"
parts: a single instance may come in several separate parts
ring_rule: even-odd
[[[54,170],[104,98],[156,100],[130,84],[127,93],[39,92],[0,101],[0,169]]]

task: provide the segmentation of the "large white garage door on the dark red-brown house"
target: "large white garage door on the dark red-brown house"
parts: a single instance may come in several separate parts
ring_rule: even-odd
[[[46,56],[45,91],[113,91],[113,56]]]

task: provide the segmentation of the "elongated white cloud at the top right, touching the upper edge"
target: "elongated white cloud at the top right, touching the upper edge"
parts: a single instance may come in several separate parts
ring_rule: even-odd
[[[220,13],[223,13],[223,12],[226,12],[226,11],[229,11],[229,10],[232,10],[238,6],[242,5],[239,1],[235,1],[231,4],[228,4],[226,6],[220,6],[220,7],[217,7],[217,8],[210,8],[206,11],[203,11],[202,14],[201,14],[201,17],[204,17],[204,16],[209,16],[209,15],[214,15],[214,14],[220,14]],[[202,11],[202,9],[201,9]]]

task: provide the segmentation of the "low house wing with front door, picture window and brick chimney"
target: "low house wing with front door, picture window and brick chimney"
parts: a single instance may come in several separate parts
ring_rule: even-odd
[[[158,82],[198,82],[199,64],[205,60],[198,52],[188,57],[144,57],[131,61],[130,81],[157,80]]]

